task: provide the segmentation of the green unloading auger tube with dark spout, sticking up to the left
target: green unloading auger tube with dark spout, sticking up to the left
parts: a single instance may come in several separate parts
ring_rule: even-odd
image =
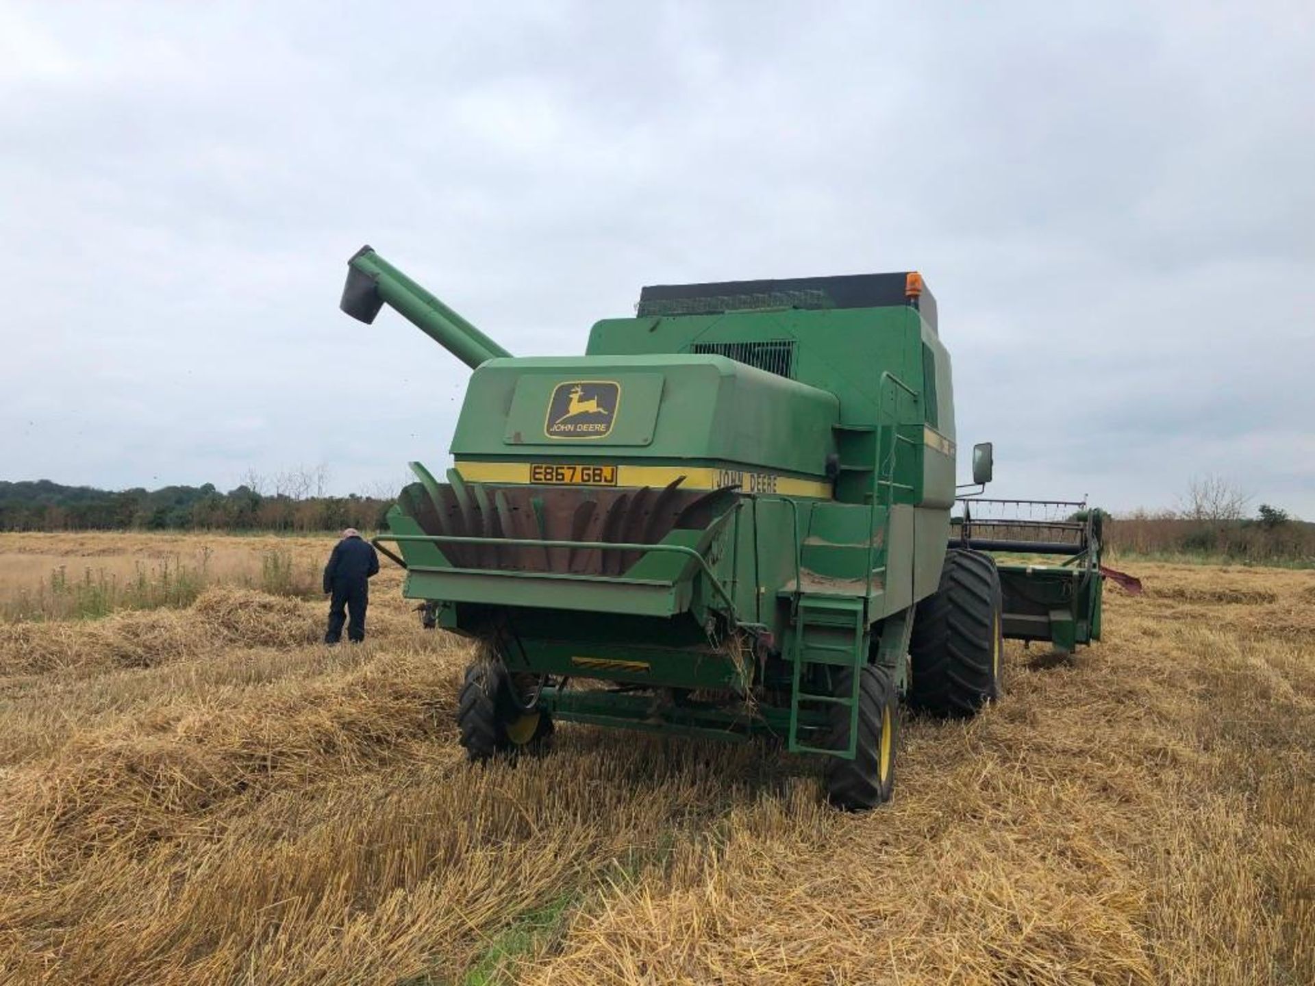
[[[416,281],[398,271],[370,246],[347,262],[347,283],[339,308],[370,325],[379,309],[389,305],[468,367],[512,354],[467,322]]]

